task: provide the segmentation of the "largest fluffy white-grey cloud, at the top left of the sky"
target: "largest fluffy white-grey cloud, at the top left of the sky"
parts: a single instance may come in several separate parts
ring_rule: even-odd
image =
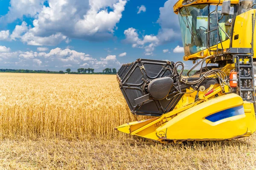
[[[9,12],[0,17],[0,23],[11,23],[23,16],[34,19],[30,27],[25,22],[16,26],[12,40],[21,38],[28,45],[57,45],[64,40],[69,43],[70,38],[105,40],[113,36],[127,3],[127,0],[47,0],[49,6],[44,6],[44,1],[11,0]],[[4,38],[0,34],[1,39],[6,39],[6,34]]]

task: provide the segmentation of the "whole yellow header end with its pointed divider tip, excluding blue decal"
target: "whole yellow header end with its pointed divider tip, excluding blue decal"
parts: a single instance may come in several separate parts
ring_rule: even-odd
[[[229,108],[244,107],[244,114],[211,122],[207,116]],[[227,94],[201,103],[192,103],[160,117],[131,122],[116,130],[164,142],[166,140],[224,140],[250,136],[256,130],[253,103],[237,94]]]

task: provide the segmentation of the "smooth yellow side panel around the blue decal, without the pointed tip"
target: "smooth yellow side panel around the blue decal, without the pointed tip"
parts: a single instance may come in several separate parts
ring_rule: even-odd
[[[243,105],[243,100],[236,94],[214,98],[180,113],[171,121],[157,128],[156,133],[159,136],[166,132],[165,136],[162,136],[163,139],[171,140],[230,139],[247,133],[252,134],[256,130],[253,106],[245,114],[217,122],[205,119],[213,113],[241,105]]]

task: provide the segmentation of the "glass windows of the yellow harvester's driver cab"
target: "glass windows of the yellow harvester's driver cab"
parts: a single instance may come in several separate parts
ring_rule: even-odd
[[[180,8],[178,17],[180,22],[183,47],[185,55],[195,54],[207,48],[209,36],[209,47],[217,43],[227,40],[225,32],[228,36],[231,34],[232,19],[234,13],[233,5],[230,8],[230,15],[225,15],[221,18],[221,5],[218,6],[218,11],[215,11],[215,4],[199,4],[192,6],[184,6]],[[219,26],[219,40],[217,31],[217,13]],[[209,15],[210,14],[210,15]],[[208,19],[209,15],[209,19]],[[209,20],[209,35],[208,35],[208,20]],[[225,32],[224,32],[225,31]]]

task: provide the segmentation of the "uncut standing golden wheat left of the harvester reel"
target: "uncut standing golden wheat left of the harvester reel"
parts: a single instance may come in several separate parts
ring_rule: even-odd
[[[134,121],[114,75],[0,74],[0,136],[117,139]]]

